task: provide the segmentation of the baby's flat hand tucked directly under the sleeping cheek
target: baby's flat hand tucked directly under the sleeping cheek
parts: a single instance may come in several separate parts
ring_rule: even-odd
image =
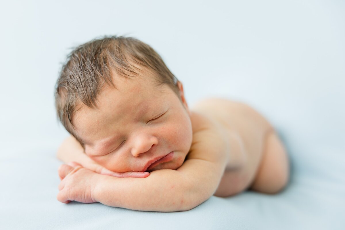
[[[146,177],[148,177],[150,175],[149,172],[137,172],[137,171],[113,172],[113,171],[110,171],[110,170],[104,168],[103,166],[101,166],[100,164],[96,163],[95,161],[92,161],[91,159],[88,162],[84,163],[83,165],[78,164],[77,162],[74,162],[74,161],[69,162],[68,165],[72,166],[72,167],[82,166],[82,167],[90,169],[90,170],[92,170],[94,172],[97,172],[99,174],[113,176],[113,177],[146,178]]]

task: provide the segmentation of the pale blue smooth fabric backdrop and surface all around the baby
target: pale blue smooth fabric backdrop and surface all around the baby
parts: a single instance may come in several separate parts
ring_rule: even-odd
[[[1,10],[1,230],[345,229],[343,1],[18,0]],[[217,96],[262,113],[288,149],[286,190],[173,213],[58,202],[55,154],[68,133],[53,88],[68,48],[104,34],[150,44],[189,104]]]

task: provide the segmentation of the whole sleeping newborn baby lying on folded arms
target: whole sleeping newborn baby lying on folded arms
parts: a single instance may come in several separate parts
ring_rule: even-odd
[[[73,50],[55,99],[71,133],[57,153],[68,163],[58,170],[63,203],[183,211],[212,195],[276,193],[288,182],[286,151],[258,112],[225,99],[190,109],[182,83],[137,39]]]

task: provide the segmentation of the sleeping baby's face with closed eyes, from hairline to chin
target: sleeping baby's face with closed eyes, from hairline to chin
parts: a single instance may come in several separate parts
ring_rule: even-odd
[[[115,172],[179,168],[192,141],[180,83],[183,103],[166,84],[157,88],[140,77],[119,77],[114,83],[117,89],[102,89],[97,109],[84,105],[73,117],[85,153]]]

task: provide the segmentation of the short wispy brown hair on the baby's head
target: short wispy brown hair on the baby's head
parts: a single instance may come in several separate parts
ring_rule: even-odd
[[[179,95],[177,78],[159,54],[135,38],[112,36],[95,39],[75,48],[67,56],[55,87],[55,106],[58,119],[82,146],[72,123],[77,106],[82,103],[97,108],[96,99],[104,83],[115,87],[112,71],[122,77],[136,77],[143,71],[138,68],[140,66],[156,75],[153,80],[157,86],[167,84]]]

